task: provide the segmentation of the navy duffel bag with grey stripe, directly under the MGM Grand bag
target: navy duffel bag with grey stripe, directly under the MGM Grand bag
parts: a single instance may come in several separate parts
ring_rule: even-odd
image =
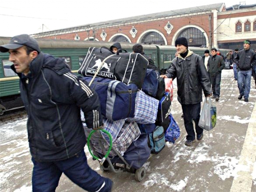
[[[92,77],[83,77],[88,83]],[[101,113],[112,121],[134,117],[137,85],[97,77],[90,86],[98,93]]]

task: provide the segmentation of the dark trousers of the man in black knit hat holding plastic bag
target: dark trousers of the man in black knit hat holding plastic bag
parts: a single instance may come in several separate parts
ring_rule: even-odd
[[[198,122],[200,119],[200,111],[201,111],[201,103],[190,104],[190,105],[181,105],[183,112],[184,125],[187,132],[187,140],[193,141],[196,138],[193,120],[196,125],[196,134],[200,135],[203,133],[204,129],[198,126]]]

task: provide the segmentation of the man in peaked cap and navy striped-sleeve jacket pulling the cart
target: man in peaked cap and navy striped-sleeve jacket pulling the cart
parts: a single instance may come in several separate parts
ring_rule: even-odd
[[[27,34],[14,36],[0,51],[10,53],[12,69],[20,77],[34,164],[32,190],[55,191],[64,173],[84,190],[110,192],[112,181],[92,170],[84,153],[80,109],[88,127],[102,126],[96,92],[71,73],[64,59],[42,53],[37,41]]]

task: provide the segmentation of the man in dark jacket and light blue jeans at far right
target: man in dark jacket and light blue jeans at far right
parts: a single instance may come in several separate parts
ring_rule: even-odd
[[[250,47],[250,40],[245,40],[244,49],[238,51],[234,57],[234,62],[238,65],[238,99],[240,100],[244,96],[245,102],[248,102],[251,88],[252,66],[256,65],[255,52]]]

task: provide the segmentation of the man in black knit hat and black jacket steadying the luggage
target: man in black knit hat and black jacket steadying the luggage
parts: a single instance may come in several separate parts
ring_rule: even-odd
[[[184,114],[184,125],[187,136],[185,145],[190,146],[195,139],[203,138],[203,131],[198,126],[202,102],[202,90],[205,97],[212,95],[211,83],[202,57],[188,49],[188,41],[180,37],[175,41],[178,56],[172,60],[172,66],[167,70],[164,78],[176,78],[178,87],[178,101]],[[193,121],[195,122],[196,135]]]

